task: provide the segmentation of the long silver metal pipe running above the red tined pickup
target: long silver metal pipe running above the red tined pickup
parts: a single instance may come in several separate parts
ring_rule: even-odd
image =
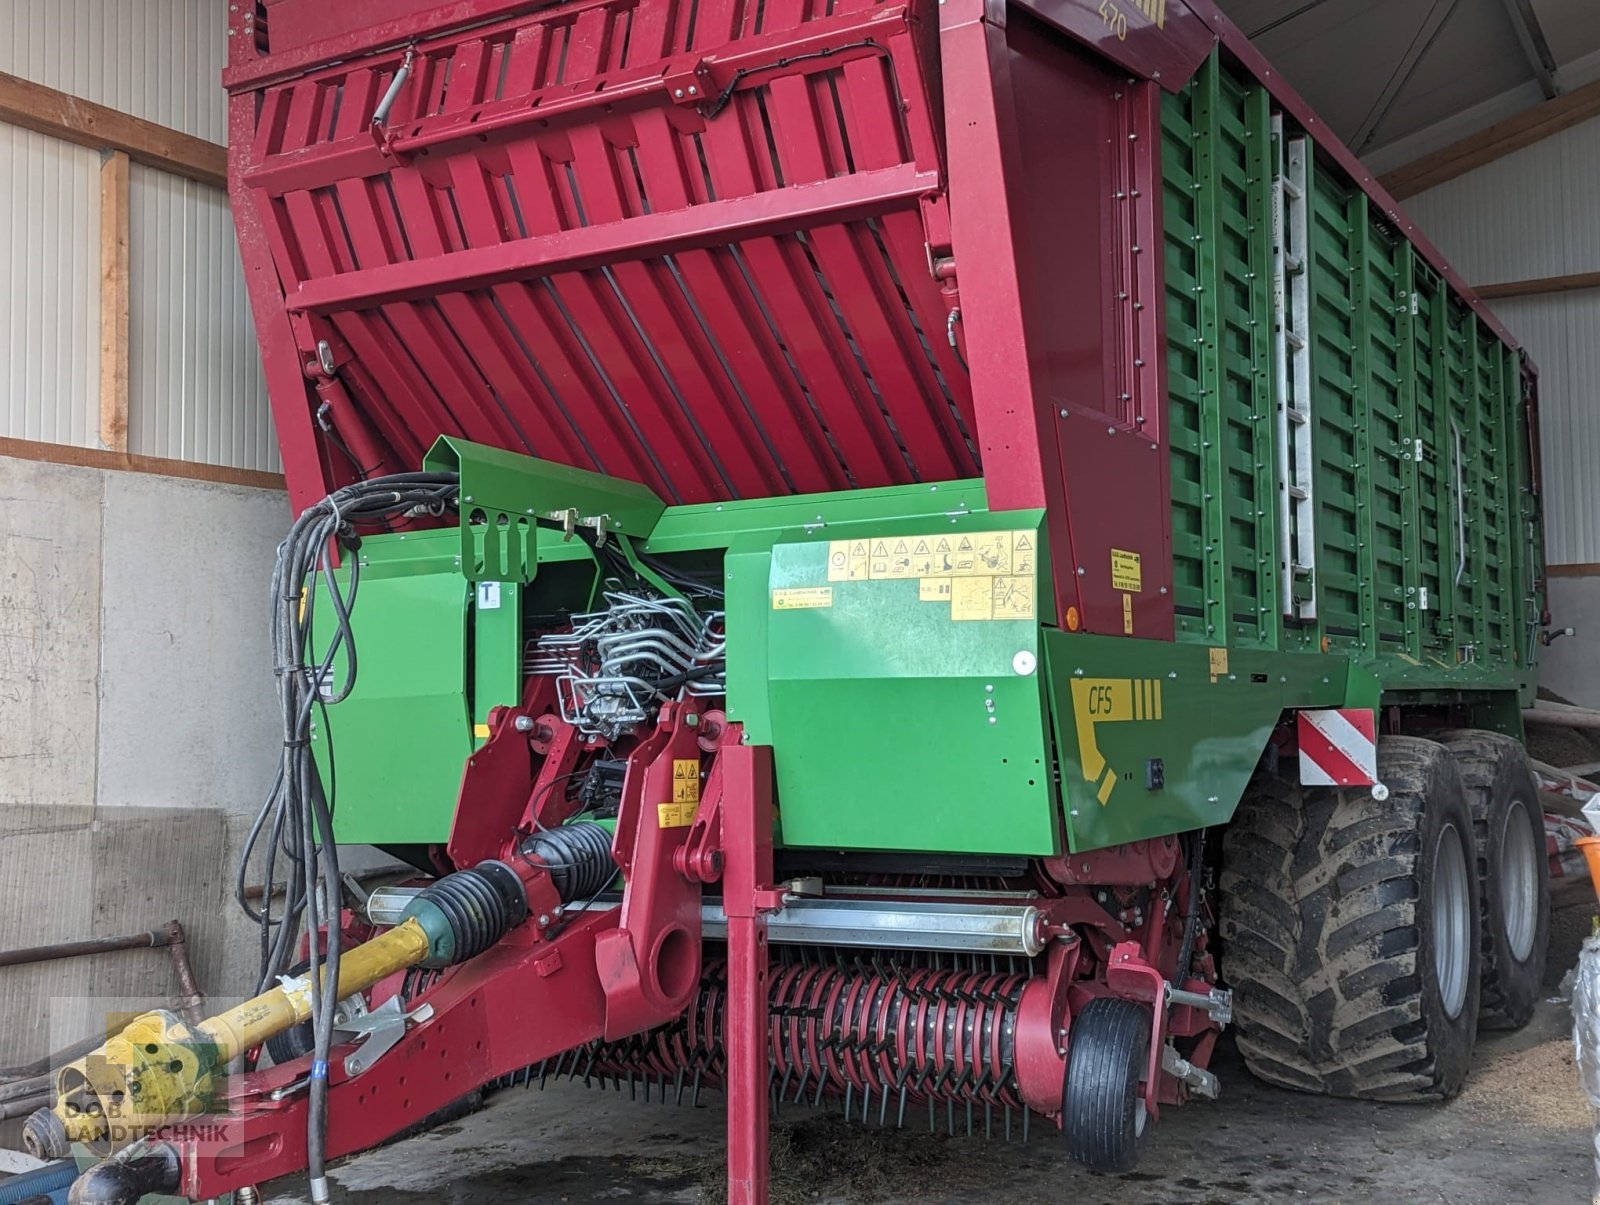
[[[366,919],[394,925],[421,888],[379,887],[366,898]],[[568,911],[614,907],[614,899],[568,904]],[[723,939],[722,904],[701,904],[701,933]],[[1034,957],[1045,949],[1040,912],[1032,904],[976,904],[902,899],[792,898],[766,919],[766,938],[787,946],[962,951]]]

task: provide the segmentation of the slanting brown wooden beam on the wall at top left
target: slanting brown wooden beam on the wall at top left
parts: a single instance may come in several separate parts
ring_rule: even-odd
[[[0,122],[227,187],[227,147],[0,72]]]

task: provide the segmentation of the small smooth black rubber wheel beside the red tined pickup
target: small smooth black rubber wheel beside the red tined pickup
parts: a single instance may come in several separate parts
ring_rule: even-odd
[[[1072,1019],[1061,1130],[1067,1154],[1094,1171],[1133,1171],[1144,1136],[1150,1010],[1101,997]]]

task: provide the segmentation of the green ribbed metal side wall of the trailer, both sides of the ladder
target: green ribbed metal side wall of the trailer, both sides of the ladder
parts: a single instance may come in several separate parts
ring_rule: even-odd
[[[1163,104],[1178,639],[1326,648],[1395,698],[1531,691],[1542,558],[1517,355],[1315,157],[1317,618],[1282,615],[1272,102],[1213,54]]]

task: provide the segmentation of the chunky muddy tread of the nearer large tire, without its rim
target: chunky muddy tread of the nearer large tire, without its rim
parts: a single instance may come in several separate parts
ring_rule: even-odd
[[[1445,770],[1442,770],[1442,765]],[[1258,775],[1224,834],[1222,970],[1259,1079],[1366,1099],[1459,1090],[1422,1021],[1418,863],[1438,744],[1386,738],[1384,803]]]

